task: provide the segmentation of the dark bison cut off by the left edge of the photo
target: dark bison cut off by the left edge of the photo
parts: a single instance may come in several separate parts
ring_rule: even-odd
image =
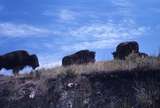
[[[13,74],[17,75],[19,70],[25,66],[33,69],[39,66],[36,55],[29,55],[27,51],[17,50],[0,56],[0,69],[13,69]]]

